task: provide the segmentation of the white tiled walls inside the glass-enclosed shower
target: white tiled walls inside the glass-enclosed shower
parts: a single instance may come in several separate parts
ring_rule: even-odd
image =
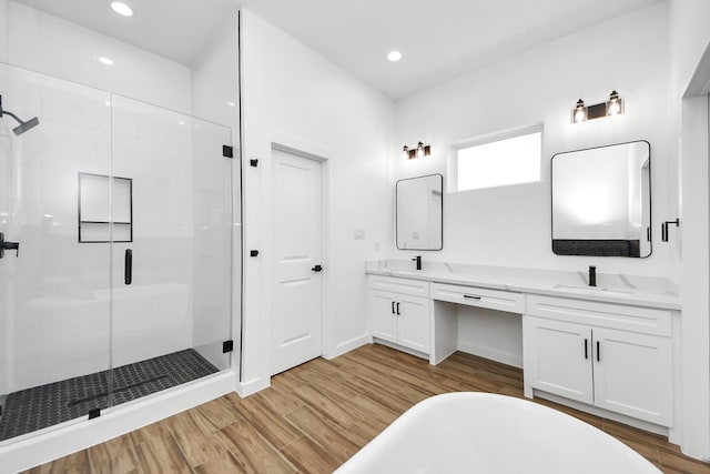
[[[136,180],[140,180],[140,174],[146,174],[144,181],[156,180],[158,185],[134,188],[134,220],[143,220],[140,229],[149,238],[144,239],[144,244],[134,242],[134,245],[139,249],[144,245],[143,268],[148,268],[150,273],[146,280],[161,284],[133,286],[130,294],[114,285],[113,365],[202,345],[214,341],[217,332],[229,336],[230,322],[219,315],[224,314],[224,307],[214,309],[214,297],[209,291],[195,296],[191,290],[195,280],[200,278],[202,281],[204,274],[213,273],[225,285],[229,285],[230,276],[224,274],[224,262],[215,263],[212,270],[193,269],[187,258],[196,256],[196,244],[206,242],[204,239],[194,240],[197,236],[194,224],[204,214],[200,214],[203,210],[192,206],[191,198],[193,181],[196,183],[195,193],[209,191],[209,183],[201,182],[204,179],[193,174],[194,168],[201,163],[192,162],[199,154],[195,151],[201,151],[207,137],[182,132],[184,127],[195,123],[170,111],[193,114],[194,109],[202,117],[226,123],[235,132],[231,133],[229,129],[220,132],[225,144],[232,140],[231,134],[236,137],[239,115],[232,104],[227,105],[227,102],[236,101],[236,81],[215,84],[214,74],[219,71],[213,65],[221,62],[223,67],[227,64],[230,72],[237,69],[236,12],[233,21],[230,19],[229,22],[224,31],[215,32],[210,56],[191,69],[13,1],[0,0],[0,31],[3,31],[0,34],[0,61],[22,68],[3,67],[0,94],[6,108],[20,117],[40,117],[41,125],[37,131],[42,134],[41,142],[36,145],[38,149],[32,150],[29,144],[37,140],[22,141],[22,138],[10,137],[8,125],[0,131],[0,165],[12,165],[21,158],[22,165],[16,164],[14,172],[38,173],[36,190],[13,190],[3,185],[0,202],[9,203],[22,191],[21,195],[32,196],[21,204],[22,212],[42,215],[37,225],[45,226],[39,233],[42,242],[23,242],[21,245],[22,262],[3,259],[6,264],[0,268],[3,278],[11,271],[26,272],[27,281],[32,276],[28,272],[38,276],[37,285],[27,285],[14,292],[3,288],[0,294],[3,302],[9,302],[0,305],[0,327],[3,329],[0,332],[0,393],[108,367],[109,249],[105,244],[75,243],[75,186],[80,171],[108,172],[111,147],[120,151],[121,140],[133,152],[126,157],[131,155],[139,167],[123,171],[123,174],[132,174],[129,178]],[[114,64],[108,67],[99,62],[98,58],[102,56],[111,58]],[[12,97],[10,84],[18,83],[23,85]],[[124,107],[120,110],[124,111],[140,107],[140,103],[112,94],[170,109],[148,108],[160,117],[152,121],[153,130],[143,130],[143,138],[148,141],[138,154],[130,133],[114,137],[111,144],[111,108],[108,105],[123,100]],[[11,105],[13,101],[14,108]],[[114,115],[121,117],[116,110],[114,108]],[[153,113],[143,112],[144,118]],[[140,120],[138,114],[126,117],[123,130],[130,129],[131,120],[136,118]],[[27,137],[30,137],[29,132]],[[40,157],[48,155],[51,160],[40,160]],[[148,168],[140,169],[141,160],[151,162],[154,167],[152,174]],[[114,162],[116,175],[122,175],[120,163],[118,160]],[[239,165],[235,168],[239,170]],[[161,173],[164,174],[162,180]],[[239,195],[239,190],[235,194]],[[172,200],[156,209],[172,209],[173,215],[151,213],[148,204],[155,200]],[[29,209],[40,202],[47,209]],[[224,208],[229,202],[222,204]],[[235,205],[239,206],[239,201]],[[178,222],[182,224],[180,229],[174,225]],[[230,225],[229,219],[226,225]],[[154,240],[151,244],[151,236],[162,241]],[[11,235],[8,234],[8,239],[12,240]],[[234,239],[239,243],[239,229]],[[170,265],[164,265],[164,261],[158,264],[158,253],[165,245],[172,249],[173,254],[183,249],[185,260]],[[39,252],[33,254],[33,246]],[[119,246],[116,244],[114,249],[114,281],[122,279],[122,254],[116,252],[122,252],[123,248]],[[202,254],[209,253],[204,249],[210,249],[210,245],[203,245],[201,251]],[[222,242],[220,250],[229,249]],[[239,259],[239,251],[235,258]],[[204,262],[203,266],[211,264],[209,259]],[[229,272],[229,264],[226,269]],[[196,270],[200,270],[199,274]],[[239,288],[239,282],[235,286]],[[230,291],[227,288],[227,294]],[[17,299],[21,301],[10,301],[12,294],[20,295]],[[239,292],[235,291],[235,295],[234,304],[239,307]],[[222,299],[220,304],[229,305],[229,299]],[[206,317],[196,322],[192,319],[193,313],[206,314]],[[207,352],[201,352],[207,357],[222,356],[213,347],[205,349]]]

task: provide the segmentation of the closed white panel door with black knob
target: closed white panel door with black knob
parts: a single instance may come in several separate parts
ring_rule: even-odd
[[[321,163],[272,150],[274,280],[272,373],[321,355]]]

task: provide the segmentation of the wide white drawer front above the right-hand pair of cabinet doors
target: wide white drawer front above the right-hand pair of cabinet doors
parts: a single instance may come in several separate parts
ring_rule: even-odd
[[[670,311],[653,307],[530,294],[527,314],[621,331],[671,335]]]

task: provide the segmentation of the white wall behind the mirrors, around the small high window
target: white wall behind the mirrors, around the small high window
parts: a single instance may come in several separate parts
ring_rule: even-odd
[[[454,143],[503,130],[544,124],[539,183],[444,196],[444,249],[424,259],[487,265],[599,273],[673,274],[671,244],[660,243],[661,220],[674,218],[667,179],[668,47],[666,7],[660,3],[560,38],[478,72],[402,100],[396,105],[396,148],[432,143],[432,157],[397,155],[395,178],[434,172],[447,178]],[[642,47],[641,47],[642,46]],[[570,110],[626,100],[626,113],[581,124]],[[558,256],[550,243],[550,158],[558,152],[646,139],[652,155],[653,253],[648,259]],[[396,256],[407,256],[393,249]]]

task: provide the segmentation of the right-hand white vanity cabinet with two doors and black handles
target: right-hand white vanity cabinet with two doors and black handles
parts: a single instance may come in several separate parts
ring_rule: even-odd
[[[525,392],[672,426],[670,311],[529,295]]]

